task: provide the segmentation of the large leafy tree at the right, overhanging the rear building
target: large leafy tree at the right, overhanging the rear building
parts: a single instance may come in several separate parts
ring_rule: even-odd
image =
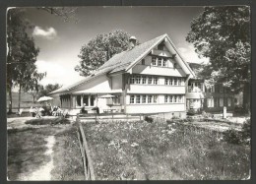
[[[246,6],[205,7],[192,21],[186,40],[209,64],[201,76],[243,92],[244,107],[250,102],[250,11]],[[246,106],[247,105],[247,106]]]

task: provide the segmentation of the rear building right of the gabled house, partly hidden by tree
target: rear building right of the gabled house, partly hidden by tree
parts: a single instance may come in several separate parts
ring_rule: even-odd
[[[193,71],[199,70],[201,64],[189,63]],[[234,94],[223,84],[206,85],[205,80],[190,78],[186,92],[187,110],[207,112],[233,110],[235,106]]]

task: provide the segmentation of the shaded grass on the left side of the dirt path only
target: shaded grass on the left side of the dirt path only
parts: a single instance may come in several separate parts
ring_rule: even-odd
[[[8,130],[8,179],[19,180],[20,175],[29,175],[40,165],[49,161],[45,153],[47,136],[56,128]]]

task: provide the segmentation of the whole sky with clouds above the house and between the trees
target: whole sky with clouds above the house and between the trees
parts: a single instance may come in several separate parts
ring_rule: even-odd
[[[60,17],[27,8],[26,18],[33,24],[31,34],[39,47],[36,66],[47,76],[41,85],[70,85],[83,77],[74,70],[80,49],[96,34],[113,30],[127,31],[143,43],[167,33],[187,62],[203,62],[185,40],[191,21],[202,7],[79,7],[76,19],[64,22]]]

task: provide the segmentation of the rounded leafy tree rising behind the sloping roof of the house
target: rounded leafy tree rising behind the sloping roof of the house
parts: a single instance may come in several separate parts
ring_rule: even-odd
[[[110,59],[114,54],[120,53],[128,48],[130,35],[125,31],[111,31],[100,33],[82,46],[78,57],[80,65],[75,71],[81,76],[91,75],[98,67]]]

